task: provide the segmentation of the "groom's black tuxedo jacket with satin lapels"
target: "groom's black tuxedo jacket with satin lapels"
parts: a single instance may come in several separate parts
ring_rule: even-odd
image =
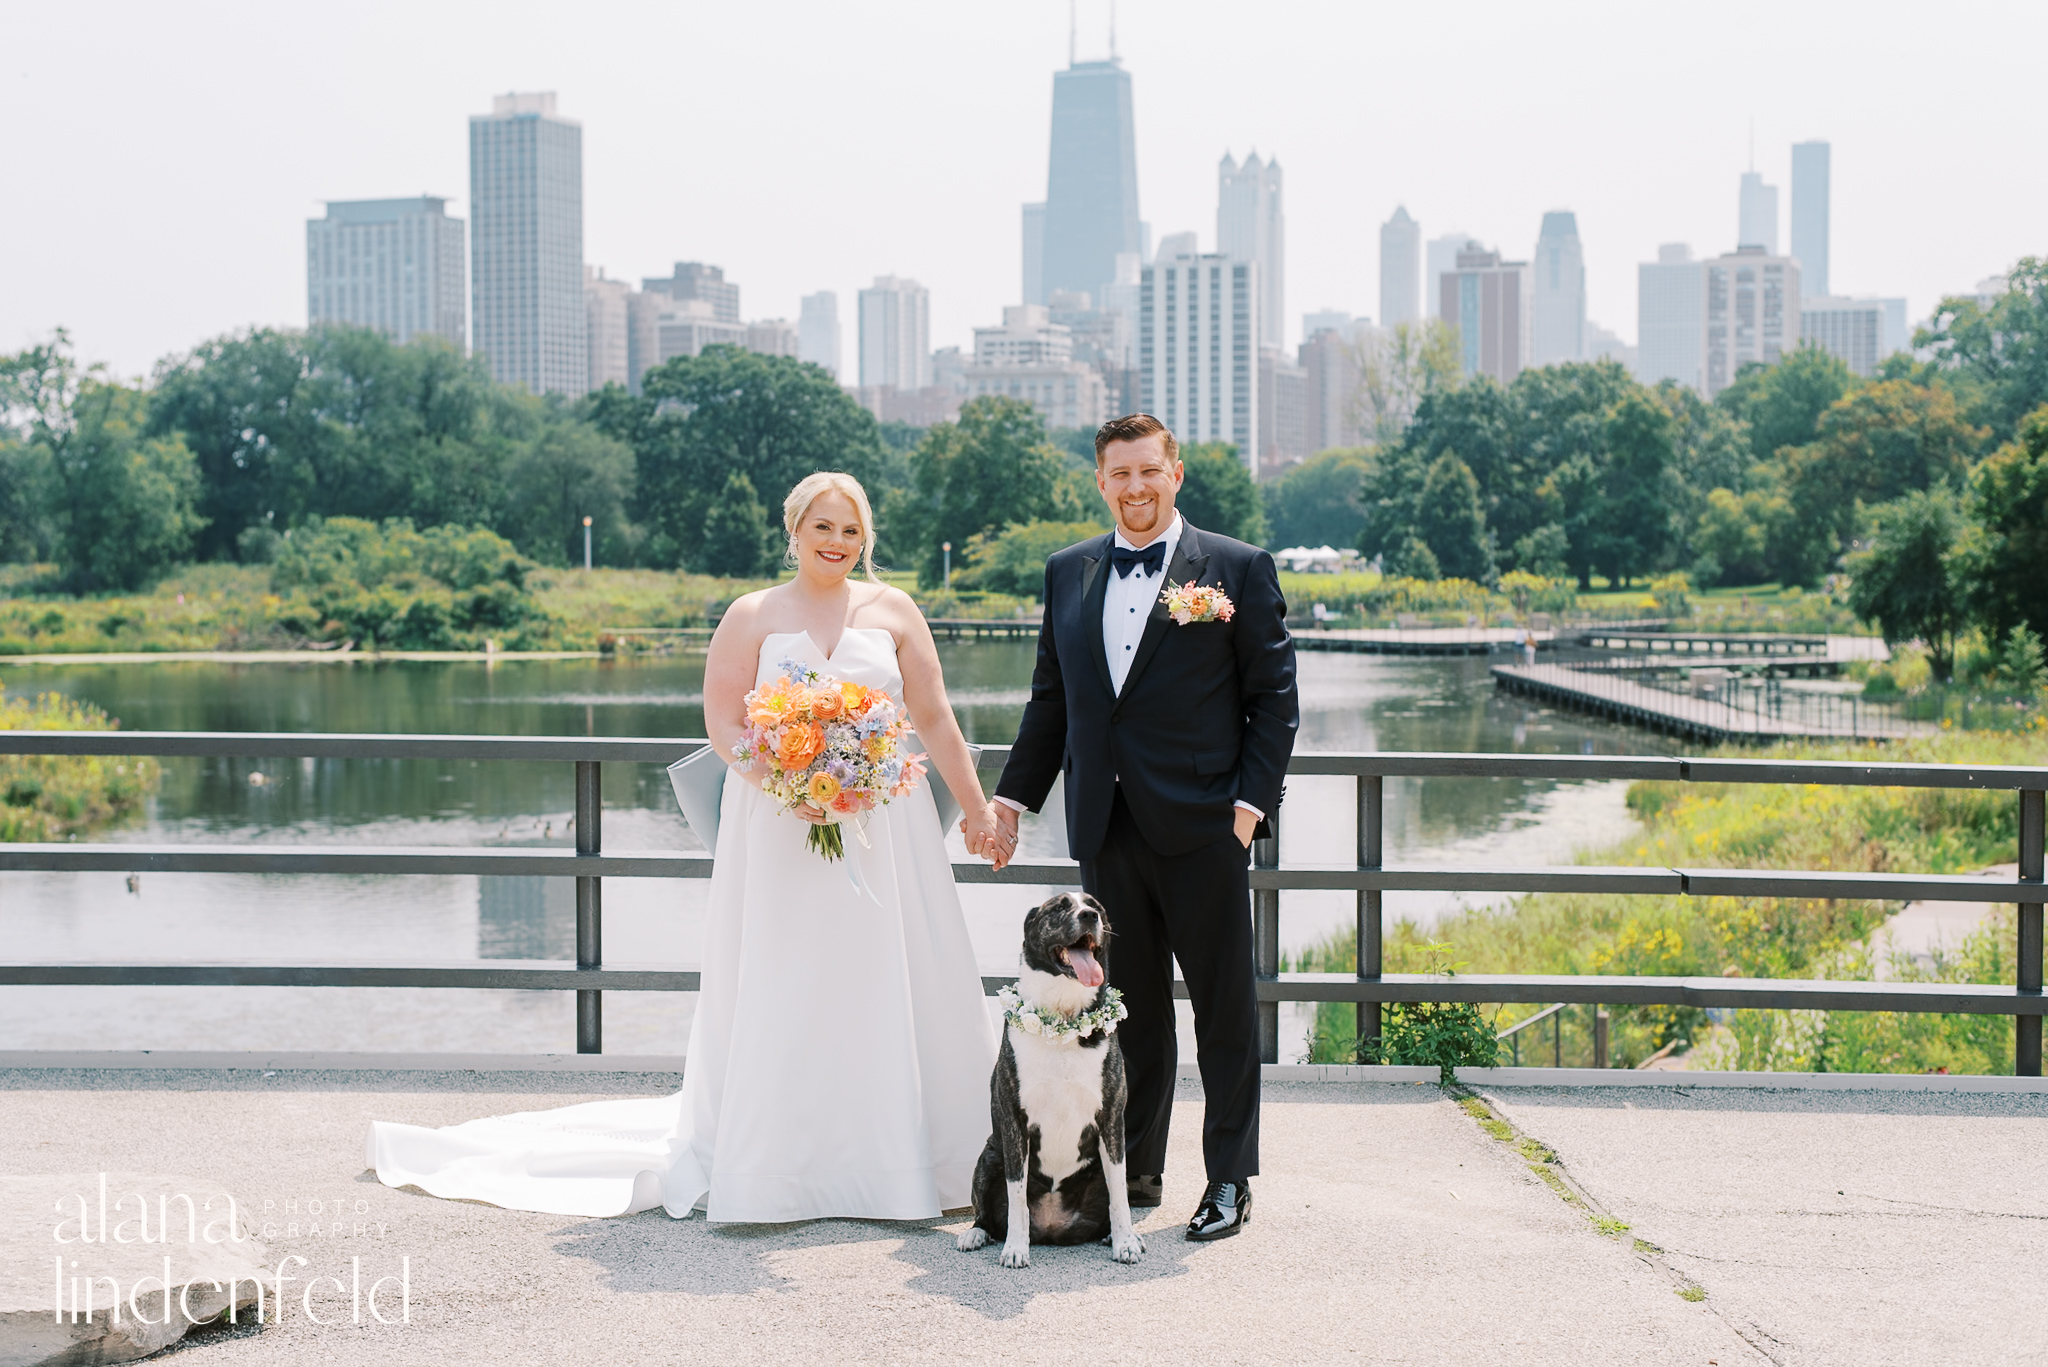
[[[1280,812],[1300,717],[1280,576],[1255,545],[1184,521],[1167,578],[1223,588],[1237,611],[1180,625],[1155,603],[1118,695],[1102,646],[1110,545],[1106,533],[1044,566],[1038,666],[995,793],[1036,812],[1065,771],[1067,848],[1094,859],[1122,781],[1145,842],[1186,855],[1233,832],[1237,799]]]

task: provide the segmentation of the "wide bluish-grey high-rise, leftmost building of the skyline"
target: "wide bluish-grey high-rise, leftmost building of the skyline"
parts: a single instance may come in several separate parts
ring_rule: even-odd
[[[469,344],[463,219],[446,199],[338,199],[305,221],[305,322],[377,328],[393,342]]]

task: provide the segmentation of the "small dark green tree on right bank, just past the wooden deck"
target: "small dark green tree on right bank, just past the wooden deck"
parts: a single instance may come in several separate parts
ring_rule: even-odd
[[[1915,490],[1876,508],[1876,537],[1849,555],[1849,607],[1890,644],[1923,641],[1935,678],[1956,670],[1964,613],[1964,519],[1954,492]]]

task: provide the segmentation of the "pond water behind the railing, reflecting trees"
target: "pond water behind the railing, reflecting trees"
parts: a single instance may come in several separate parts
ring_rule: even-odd
[[[969,740],[1006,744],[1032,644],[942,646]],[[16,693],[96,703],[127,730],[700,736],[702,654],[641,660],[8,666]],[[1640,732],[1493,691],[1483,658],[1300,656],[1300,750],[1655,752]],[[260,783],[252,783],[262,775]],[[985,775],[993,783],[993,775]],[[1386,859],[1569,863],[1630,828],[1622,783],[1395,779]],[[567,764],[436,760],[164,760],[137,824],[106,840],[569,844]],[[651,764],[606,764],[606,848],[702,848]],[[1047,812],[1059,810],[1059,799]],[[1352,779],[1294,779],[1282,861],[1348,863]],[[956,857],[961,836],[952,832]],[[1065,857],[1059,820],[1026,818],[1026,857]],[[983,971],[1016,961],[1032,887],[963,887]],[[1389,894],[1421,922],[1450,894]],[[702,881],[608,879],[604,961],[694,965]],[[1348,926],[1352,894],[1282,896],[1286,949]],[[16,963],[446,963],[573,957],[573,885],[522,877],[0,873]],[[682,1053],[692,994],[610,992],[608,1053]],[[1305,1014],[1288,1012],[1290,1033]],[[573,1049],[563,992],[377,988],[0,988],[0,1037],[37,1049]],[[1188,1051],[1192,1058],[1192,1047]],[[1286,1058],[1286,1053],[1284,1053]]]

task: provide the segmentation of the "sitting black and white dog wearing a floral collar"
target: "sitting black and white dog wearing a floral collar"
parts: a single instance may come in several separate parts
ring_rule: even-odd
[[[973,1252],[1004,1244],[1004,1267],[1028,1267],[1030,1244],[1106,1240],[1118,1262],[1145,1244],[1124,1187],[1124,1053],[1108,978],[1110,918],[1063,892],[1024,916],[1018,1002],[989,1078],[995,1133],[975,1164]]]

